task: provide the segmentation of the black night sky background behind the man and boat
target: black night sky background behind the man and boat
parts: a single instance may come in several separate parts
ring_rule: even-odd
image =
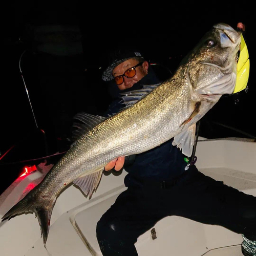
[[[15,146],[0,160],[0,172],[4,174],[0,194],[20,174],[25,165],[20,161],[67,150],[67,137],[76,113],[102,115],[108,108],[112,99],[101,74],[111,51],[120,46],[136,46],[151,63],[159,64],[154,66],[156,72],[166,78],[167,69],[174,72],[182,56],[219,22],[233,28],[238,22],[246,25],[244,37],[250,55],[248,92],[222,97],[202,119],[200,135],[206,138],[256,136],[252,5],[27,1],[14,2],[2,10],[5,19],[0,158]],[[22,54],[20,67],[38,128],[19,71]],[[45,131],[45,136],[40,129]],[[34,163],[37,161],[26,164]]]

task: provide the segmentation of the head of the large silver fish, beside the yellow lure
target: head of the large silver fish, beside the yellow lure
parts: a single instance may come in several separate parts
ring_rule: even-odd
[[[220,23],[200,40],[187,59],[187,80],[193,91],[219,99],[234,91],[241,32]]]

